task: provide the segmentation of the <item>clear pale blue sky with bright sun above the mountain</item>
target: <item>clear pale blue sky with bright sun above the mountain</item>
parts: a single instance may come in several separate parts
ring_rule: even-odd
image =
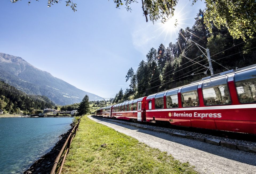
[[[100,97],[114,97],[129,86],[125,76],[137,70],[150,48],[176,42],[181,28],[192,27],[204,1],[191,6],[178,2],[171,22],[146,22],[141,1],[115,8],[113,0],[77,3],[77,11],[65,0],[47,8],[47,1],[0,1],[0,52],[19,56],[75,87]]]

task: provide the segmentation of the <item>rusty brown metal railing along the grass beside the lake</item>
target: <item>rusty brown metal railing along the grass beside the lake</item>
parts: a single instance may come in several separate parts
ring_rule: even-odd
[[[62,171],[62,167],[63,167],[63,164],[64,164],[64,161],[66,159],[66,156],[67,154],[69,153],[69,149],[70,149],[70,144],[73,140],[73,138],[75,137],[75,134],[77,133],[77,130],[78,130],[78,126],[79,126],[79,123],[80,123],[80,119],[81,117],[78,119],[78,122],[77,124],[74,126],[74,128],[72,129],[72,131],[69,133],[69,136],[67,137],[67,140],[65,141],[64,145],[62,146],[58,156],[56,157],[55,161],[54,161],[54,164],[53,164],[53,168],[51,169],[51,173],[50,174],[55,174],[55,171],[58,167],[58,164],[60,162],[60,159],[61,159],[61,156],[63,155],[63,152],[65,151],[65,148],[66,148],[66,152],[65,152],[65,155],[63,156],[63,159],[61,161],[61,166],[59,166],[59,172],[58,174],[61,173]]]

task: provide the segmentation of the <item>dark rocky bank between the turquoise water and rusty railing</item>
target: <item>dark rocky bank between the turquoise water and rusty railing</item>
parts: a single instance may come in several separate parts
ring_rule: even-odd
[[[55,146],[51,149],[51,151],[41,156],[23,173],[24,174],[50,173],[51,169],[53,168],[54,161],[58,156],[59,151],[62,149],[62,146],[64,145],[73,127],[74,125],[71,123],[71,128],[66,133],[59,136],[59,138],[61,139],[55,144]]]

